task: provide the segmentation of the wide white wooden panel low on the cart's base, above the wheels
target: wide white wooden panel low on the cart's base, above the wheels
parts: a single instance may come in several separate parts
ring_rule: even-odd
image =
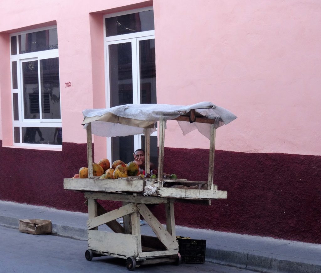
[[[137,235],[88,231],[88,248],[125,256],[137,256]]]

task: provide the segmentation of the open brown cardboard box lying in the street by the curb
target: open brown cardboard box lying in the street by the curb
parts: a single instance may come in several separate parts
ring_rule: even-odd
[[[30,234],[51,233],[51,221],[41,219],[20,219],[19,231]]]

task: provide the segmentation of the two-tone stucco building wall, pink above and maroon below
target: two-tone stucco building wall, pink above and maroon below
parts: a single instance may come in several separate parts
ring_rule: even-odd
[[[83,195],[64,190],[63,178],[86,165],[82,110],[105,107],[102,18],[153,5],[158,103],[211,101],[238,116],[217,130],[214,183],[228,199],[175,205],[177,224],[321,242],[319,1],[3,2],[1,200],[86,212]],[[49,25],[58,29],[63,149],[13,148],[9,34]],[[181,136],[169,121],[164,170],[206,180],[209,141],[198,132]],[[94,142],[97,162],[106,141]]]

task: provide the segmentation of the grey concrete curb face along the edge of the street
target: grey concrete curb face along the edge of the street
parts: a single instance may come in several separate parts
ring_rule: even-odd
[[[18,229],[19,219],[0,216],[0,226]],[[87,229],[52,223],[52,235],[86,241]],[[241,250],[231,251],[207,247],[205,253],[205,259],[208,262],[258,270],[260,272],[321,272],[321,265],[278,259],[277,257],[265,257]]]

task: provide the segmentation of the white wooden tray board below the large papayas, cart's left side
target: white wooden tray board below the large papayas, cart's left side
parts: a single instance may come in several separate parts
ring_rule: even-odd
[[[82,191],[143,192],[143,179],[65,178],[64,189]]]

